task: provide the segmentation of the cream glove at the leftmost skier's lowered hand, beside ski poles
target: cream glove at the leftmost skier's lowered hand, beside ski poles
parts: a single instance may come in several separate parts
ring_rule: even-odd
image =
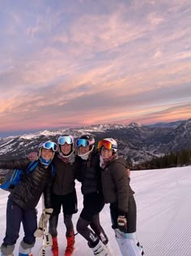
[[[50,215],[53,213],[53,208],[45,208],[40,215],[39,225],[36,231],[34,232],[34,236],[41,237],[43,231],[47,228],[47,223]]]

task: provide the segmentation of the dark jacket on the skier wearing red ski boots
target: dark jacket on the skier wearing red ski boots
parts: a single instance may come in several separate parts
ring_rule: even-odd
[[[55,155],[53,163],[56,167],[56,174],[53,178],[53,193],[66,195],[74,191],[77,163],[64,163],[59,155]]]

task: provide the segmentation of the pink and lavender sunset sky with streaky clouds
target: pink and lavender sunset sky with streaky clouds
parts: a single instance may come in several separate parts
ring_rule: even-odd
[[[189,0],[2,0],[0,132],[191,117]]]

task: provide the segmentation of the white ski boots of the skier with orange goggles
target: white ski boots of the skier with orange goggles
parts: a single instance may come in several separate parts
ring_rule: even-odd
[[[124,233],[117,228],[115,233],[122,256],[142,256],[144,254],[142,246],[138,243],[136,232]]]

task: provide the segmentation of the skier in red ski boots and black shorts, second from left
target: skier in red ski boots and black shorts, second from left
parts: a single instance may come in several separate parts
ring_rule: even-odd
[[[53,177],[53,184],[51,188],[53,214],[49,219],[49,233],[53,238],[53,256],[58,256],[57,223],[62,210],[64,223],[66,225],[67,245],[65,256],[70,256],[74,252],[74,225],[72,222],[72,216],[78,212],[77,195],[74,182],[77,171],[77,163],[75,161],[74,154],[74,137],[69,134],[64,134],[58,137],[57,150],[58,152],[53,158],[53,164],[57,171]],[[28,155],[28,158],[32,161],[37,159],[36,157],[36,152],[32,152]],[[36,231],[35,235],[38,237],[42,236],[42,230],[40,227]]]

